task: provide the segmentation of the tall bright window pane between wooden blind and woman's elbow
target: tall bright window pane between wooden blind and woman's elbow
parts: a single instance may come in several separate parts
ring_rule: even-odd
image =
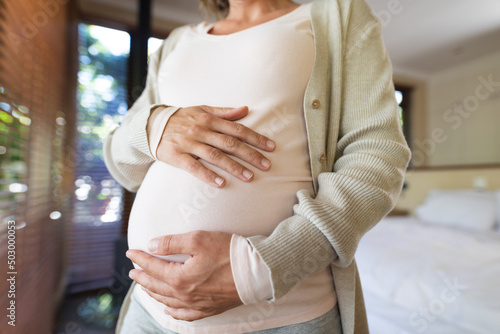
[[[102,143],[127,112],[130,35],[79,25],[78,113],[69,291],[107,287],[121,235],[124,190],[109,175]]]

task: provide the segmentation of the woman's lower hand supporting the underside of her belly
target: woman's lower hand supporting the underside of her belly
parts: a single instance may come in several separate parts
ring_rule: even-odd
[[[142,270],[130,271],[154,299],[166,305],[175,319],[193,321],[242,305],[229,257],[231,234],[194,231],[155,238],[149,250],[156,255],[189,254],[184,263],[168,262],[139,250],[127,257]],[[157,249],[151,247],[157,241]]]

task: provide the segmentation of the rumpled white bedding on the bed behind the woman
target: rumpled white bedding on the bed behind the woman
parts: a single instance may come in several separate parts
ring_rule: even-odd
[[[500,233],[384,218],[357,263],[372,334],[500,333]]]

